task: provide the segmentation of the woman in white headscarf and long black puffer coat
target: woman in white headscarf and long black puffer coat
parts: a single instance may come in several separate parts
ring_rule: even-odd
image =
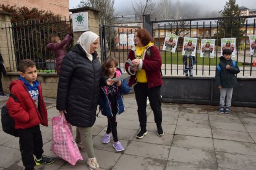
[[[77,126],[76,142],[82,142],[88,154],[90,169],[99,169],[92,140],[92,126],[100,95],[100,82],[111,85],[111,79],[101,76],[101,63],[97,52],[99,36],[91,31],[83,33],[61,63],[57,109],[67,122]]]

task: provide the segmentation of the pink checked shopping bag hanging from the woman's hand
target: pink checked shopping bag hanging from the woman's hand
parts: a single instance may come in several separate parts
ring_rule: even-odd
[[[54,116],[51,121],[53,123],[51,151],[74,166],[78,160],[83,160],[83,157],[75,143],[72,130],[70,131],[70,124],[67,123],[64,115]]]

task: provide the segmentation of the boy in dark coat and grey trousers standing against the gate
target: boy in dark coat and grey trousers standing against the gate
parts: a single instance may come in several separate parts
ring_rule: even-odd
[[[216,67],[215,82],[220,89],[220,113],[230,113],[233,88],[237,87],[236,74],[240,72],[236,62],[231,59],[232,51],[224,49],[220,63]],[[226,110],[224,110],[226,97]]]

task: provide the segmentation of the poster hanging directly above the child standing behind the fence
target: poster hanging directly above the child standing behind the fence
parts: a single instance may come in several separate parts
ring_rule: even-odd
[[[197,47],[197,38],[184,37],[182,55],[195,56],[196,47]]]

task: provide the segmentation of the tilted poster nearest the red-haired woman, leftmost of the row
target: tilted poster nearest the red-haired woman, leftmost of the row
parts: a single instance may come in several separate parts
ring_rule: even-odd
[[[178,39],[179,36],[176,36],[176,34],[167,33],[164,39],[163,50],[175,52]]]

